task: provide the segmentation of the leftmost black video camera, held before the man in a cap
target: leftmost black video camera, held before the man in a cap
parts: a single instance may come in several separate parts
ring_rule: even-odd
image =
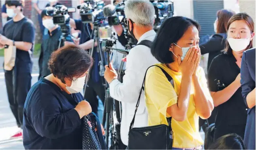
[[[73,42],[70,35],[70,16],[68,15],[68,12],[76,12],[76,9],[67,8],[64,5],[56,5],[55,8],[47,10],[46,14],[48,16],[53,16],[53,23],[55,25],[60,25],[63,40]]]

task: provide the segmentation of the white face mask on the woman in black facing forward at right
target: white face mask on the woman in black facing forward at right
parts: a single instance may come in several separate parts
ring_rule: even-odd
[[[227,40],[231,49],[234,50],[235,52],[244,50],[250,44],[250,38],[247,38],[247,39],[227,38]]]

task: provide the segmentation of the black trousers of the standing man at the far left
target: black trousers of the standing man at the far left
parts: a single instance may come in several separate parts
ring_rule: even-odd
[[[31,87],[31,73],[19,72],[16,69],[4,71],[6,89],[10,108],[18,127],[22,128],[23,107]]]

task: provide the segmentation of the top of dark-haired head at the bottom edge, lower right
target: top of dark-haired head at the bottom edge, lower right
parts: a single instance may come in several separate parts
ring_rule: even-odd
[[[208,150],[246,150],[246,146],[239,135],[232,133],[215,140]]]

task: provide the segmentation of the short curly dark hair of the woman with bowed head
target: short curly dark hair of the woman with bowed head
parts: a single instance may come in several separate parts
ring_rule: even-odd
[[[93,59],[86,50],[72,45],[53,52],[48,66],[54,77],[66,84],[65,78],[72,80],[73,77],[80,77],[92,67],[92,64]]]

